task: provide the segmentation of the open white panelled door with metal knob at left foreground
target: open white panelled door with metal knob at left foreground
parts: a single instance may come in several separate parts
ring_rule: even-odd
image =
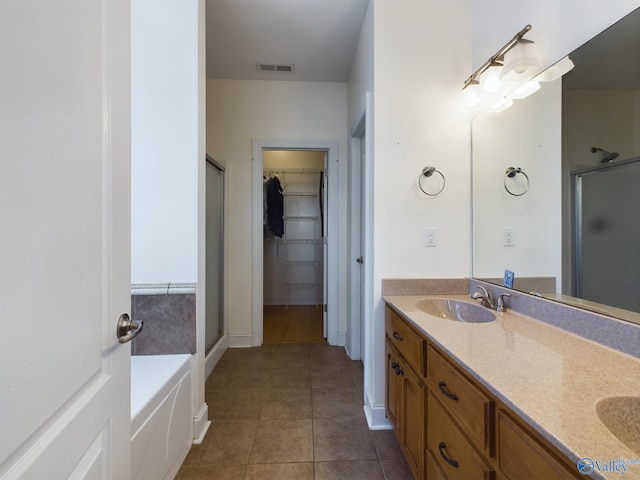
[[[0,3],[0,478],[127,479],[130,2]]]

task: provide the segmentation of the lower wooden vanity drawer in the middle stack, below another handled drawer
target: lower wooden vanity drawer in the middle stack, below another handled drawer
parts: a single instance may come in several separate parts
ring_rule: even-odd
[[[427,404],[427,456],[435,459],[446,478],[494,480],[495,470],[478,455],[431,391]]]

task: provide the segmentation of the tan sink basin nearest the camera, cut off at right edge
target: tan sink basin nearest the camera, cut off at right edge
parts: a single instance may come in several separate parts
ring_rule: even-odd
[[[640,397],[606,397],[596,403],[600,421],[618,440],[640,455]]]

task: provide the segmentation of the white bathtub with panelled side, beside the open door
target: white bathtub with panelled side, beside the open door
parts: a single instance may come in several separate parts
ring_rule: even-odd
[[[131,357],[131,478],[173,479],[193,442],[191,355]]]

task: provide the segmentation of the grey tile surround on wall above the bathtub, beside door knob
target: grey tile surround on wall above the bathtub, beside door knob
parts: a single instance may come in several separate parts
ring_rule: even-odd
[[[133,291],[136,294],[131,295],[131,318],[143,320],[144,328],[131,342],[132,355],[171,355],[196,351],[195,293],[173,293],[184,292],[183,288],[154,289],[151,294]]]

